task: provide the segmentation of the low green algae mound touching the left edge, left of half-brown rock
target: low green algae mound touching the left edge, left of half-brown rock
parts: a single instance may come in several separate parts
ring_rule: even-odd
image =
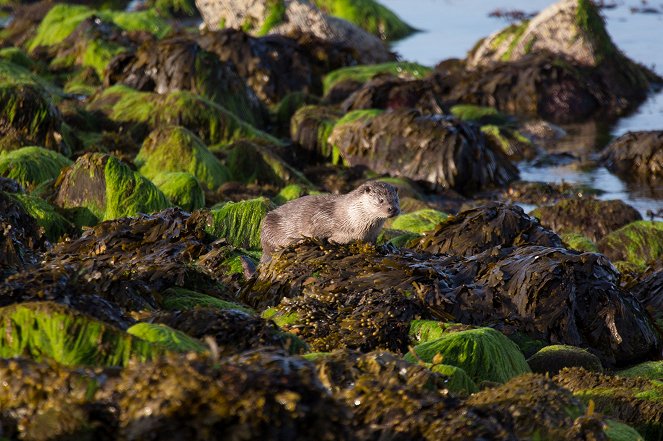
[[[64,155],[42,147],[22,147],[0,152],[0,176],[10,178],[27,190],[55,179],[60,171],[73,164]]]

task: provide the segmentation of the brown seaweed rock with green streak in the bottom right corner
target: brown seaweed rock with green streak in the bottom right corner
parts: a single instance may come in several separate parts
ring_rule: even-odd
[[[554,380],[584,402],[592,400],[598,412],[633,426],[646,440],[661,439],[663,385],[660,381],[624,378],[582,368],[564,369]]]

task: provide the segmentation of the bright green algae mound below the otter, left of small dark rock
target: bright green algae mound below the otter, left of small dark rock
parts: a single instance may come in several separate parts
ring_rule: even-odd
[[[405,359],[442,363],[463,368],[477,383],[505,383],[512,377],[530,372],[525,357],[515,343],[492,328],[453,332],[414,347]]]

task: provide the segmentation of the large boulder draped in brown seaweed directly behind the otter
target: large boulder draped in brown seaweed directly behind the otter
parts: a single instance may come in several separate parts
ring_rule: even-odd
[[[330,142],[349,165],[471,193],[517,179],[518,171],[488,147],[473,125],[414,110],[357,111],[336,123]]]

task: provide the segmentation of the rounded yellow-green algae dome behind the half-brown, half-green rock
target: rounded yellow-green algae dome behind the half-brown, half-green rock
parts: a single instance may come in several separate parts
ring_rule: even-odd
[[[164,172],[188,172],[208,190],[216,190],[230,180],[228,169],[200,138],[184,127],[168,127],[150,133],[134,164],[149,179]]]

